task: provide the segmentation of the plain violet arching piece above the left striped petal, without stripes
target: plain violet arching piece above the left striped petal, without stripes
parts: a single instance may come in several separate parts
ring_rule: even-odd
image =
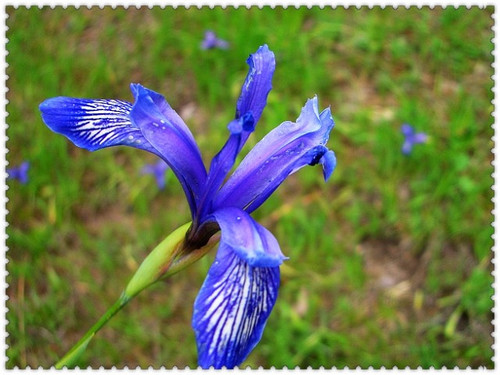
[[[184,188],[194,217],[207,175],[193,135],[163,96],[138,84],[131,87],[136,102],[130,118],[172,168]]]

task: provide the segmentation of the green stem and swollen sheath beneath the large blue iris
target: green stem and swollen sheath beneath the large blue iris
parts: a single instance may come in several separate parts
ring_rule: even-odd
[[[134,296],[160,279],[172,276],[193,264],[209,252],[220,239],[214,235],[202,248],[183,253],[184,238],[191,223],[186,223],[173,231],[144,259],[120,298],[104,313],[99,321],[55,364],[56,369],[74,366],[95,334],[120,311]]]

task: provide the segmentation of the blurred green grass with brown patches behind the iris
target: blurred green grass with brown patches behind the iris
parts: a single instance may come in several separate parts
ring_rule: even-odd
[[[327,184],[304,168],[254,215],[290,260],[244,365],[493,368],[493,7],[7,10],[7,159],[32,165],[7,192],[8,368],[52,365],[189,220],[172,176],[160,192],[139,174],[151,155],[78,149],[38,104],[131,100],[140,82],[166,96],[208,163],[264,43],[274,89],[244,151],[317,94],[337,123],[338,167]],[[202,51],[206,29],[231,48]],[[409,157],[403,122],[430,137]],[[138,296],[80,365],[195,366],[192,303],[210,263]]]

